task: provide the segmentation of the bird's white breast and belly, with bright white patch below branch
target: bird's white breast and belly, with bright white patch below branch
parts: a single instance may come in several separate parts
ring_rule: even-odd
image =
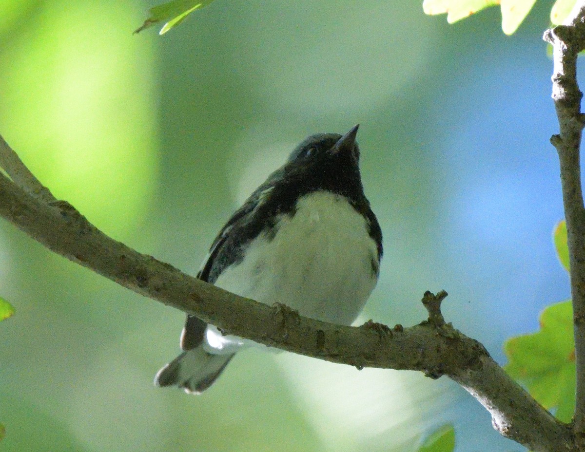
[[[277,225],[272,240],[254,239],[242,263],[224,270],[215,285],[314,319],[352,323],[377,281],[371,264],[377,246],[363,216],[343,196],[314,192]],[[233,353],[233,346],[243,344],[215,327],[208,328],[207,339],[215,353]]]

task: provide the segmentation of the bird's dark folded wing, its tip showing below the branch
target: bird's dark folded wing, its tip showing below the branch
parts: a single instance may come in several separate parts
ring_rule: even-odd
[[[254,209],[256,209],[259,205],[261,205],[264,199],[266,199],[267,194],[269,194],[273,188],[272,181],[273,178],[276,177],[276,173],[277,172],[273,173],[273,175],[271,175],[271,177],[266,182],[264,182],[264,184],[260,185],[260,187],[257,188],[252,195],[250,195],[246,202],[243,203],[242,207],[240,207],[228,220],[225,226],[223,226],[218,236],[215,237],[214,243],[212,243],[211,248],[209,249],[209,253],[201,265],[201,270],[199,270],[197,273],[197,278],[199,278],[199,280],[214,283],[223,268],[228,267],[233,263],[233,261],[236,260],[235,255],[222,256],[221,259],[218,259],[218,256],[224,249],[223,245],[229,239],[234,230],[238,230],[240,227],[245,226],[249,214],[253,212]],[[232,243],[229,248],[232,248],[234,245],[237,244]],[[230,253],[228,250],[226,253],[222,254]],[[214,270],[214,265],[218,268],[215,269],[216,271],[212,272],[212,270]],[[198,319],[192,315],[187,315],[185,327],[181,333],[181,349],[192,350],[195,347],[198,347],[204,340],[206,327],[207,323],[205,323],[203,320]]]

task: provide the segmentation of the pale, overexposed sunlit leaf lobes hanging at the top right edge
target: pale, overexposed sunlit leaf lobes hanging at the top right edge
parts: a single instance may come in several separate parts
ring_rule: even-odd
[[[447,13],[449,23],[457,22],[488,6],[500,5],[502,30],[512,34],[526,18],[536,0],[424,0],[426,14]],[[550,11],[550,22],[559,25],[571,12],[576,0],[556,0]]]

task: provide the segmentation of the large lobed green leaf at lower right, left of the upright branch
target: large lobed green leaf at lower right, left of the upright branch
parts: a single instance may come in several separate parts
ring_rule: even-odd
[[[546,409],[569,422],[575,406],[575,346],[570,301],[548,306],[539,319],[538,333],[508,339],[505,370],[522,382]]]

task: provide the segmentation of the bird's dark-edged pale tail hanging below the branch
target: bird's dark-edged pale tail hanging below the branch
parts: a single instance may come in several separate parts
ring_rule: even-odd
[[[184,351],[159,370],[154,384],[161,387],[177,385],[190,394],[201,394],[221,375],[233,355],[207,353],[202,346]]]

